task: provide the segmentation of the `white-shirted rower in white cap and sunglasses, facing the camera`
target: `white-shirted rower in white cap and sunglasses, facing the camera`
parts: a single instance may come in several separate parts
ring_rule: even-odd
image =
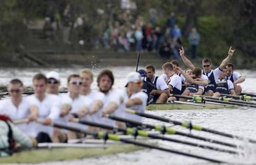
[[[56,122],[61,124],[67,124],[69,111],[72,109],[72,99],[65,97],[62,93],[59,93],[59,86],[61,84],[61,78],[58,72],[51,71],[46,74],[48,80],[47,93],[59,96],[61,99],[61,113],[59,114],[59,119]],[[67,131],[62,129],[54,128],[53,130],[53,142],[67,142]]]

